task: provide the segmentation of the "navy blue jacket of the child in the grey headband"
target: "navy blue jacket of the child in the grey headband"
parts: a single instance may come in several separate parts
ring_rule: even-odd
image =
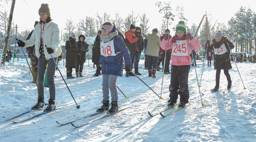
[[[113,40],[113,39],[111,39]],[[100,39],[101,42],[101,39]],[[102,56],[100,55],[99,64],[101,64],[101,74],[111,74],[122,77],[124,62],[125,65],[132,65],[129,50],[126,47],[121,36],[116,35],[114,38],[114,48],[116,56]],[[120,52],[120,53],[118,53]]]

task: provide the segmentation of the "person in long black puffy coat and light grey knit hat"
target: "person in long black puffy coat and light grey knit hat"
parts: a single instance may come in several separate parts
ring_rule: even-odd
[[[76,51],[78,50],[76,45],[76,34],[71,33],[69,40],[66,41],[66,68],[67,68],[67,79],[75,78],[72,76],[72,69],[76,68]]]

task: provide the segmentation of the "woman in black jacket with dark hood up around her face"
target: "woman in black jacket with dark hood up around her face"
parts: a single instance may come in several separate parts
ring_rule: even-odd
[[[82,72],[83,72],[83,67],[84,67],[84,62],[86,59],[86,52],[89,51],[88,44],[84,41],[85,36],[83,34],[79,35],[77,41],[77,47],[78,50],[76,51],[77,58],[76,58],[76,77],[83,77]]]

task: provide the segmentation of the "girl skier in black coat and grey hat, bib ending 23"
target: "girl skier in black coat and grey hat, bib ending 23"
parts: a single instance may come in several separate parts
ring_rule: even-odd
[[[205,46],[207,43],[210,43],[210,40],[206,41]],[[229,45],[229,46],[228,46]],[[220,87],[220,70],[224,70],[224,74],[228,80],[228,90],[232,87],[231,77],[228,73],[228,70],[232,69],[229,54],[230,49],[233,49],[235,46],[232,42],[228,41],[227,36],[222,36],[221,31],[218,31],[214,35],[214,39],[212,40],[212,44],[208,46],[210,50],[214,50],[214,69],[216,70],[216,85],[213,88],[213,91],[218,91]]]

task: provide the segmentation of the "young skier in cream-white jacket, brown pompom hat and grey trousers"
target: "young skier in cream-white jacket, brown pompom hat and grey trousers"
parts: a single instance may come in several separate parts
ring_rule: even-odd
[[[35,26],[28,41],[18,42],[19,47],[29,47],[35,44],[36,57],[38,58],[38,72],[37,72],[37,103],[31,109],[39,109],[44,106],[44,73],[48,65],[47,83],[49,85],[50,99],[47,108],[44,111],[52,111],[56,108],[55,105],[55,84],[54,72],[56,69],[54,60],[61,54],[60,46],[60,30],[57,24],[52,22],[50,9],[48,4],[41,4],[38,10],[40,15],[40,22]],[[46,49],[45,45],[49,47]],[[47,52],[45,52],[47,51]]]

